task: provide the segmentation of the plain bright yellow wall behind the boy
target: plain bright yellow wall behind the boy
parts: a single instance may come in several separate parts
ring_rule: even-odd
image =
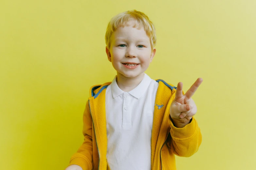
[[[145,12],[157,31],[146,73],[183,82],[203,135],[178,170],[255,170],[256,1],[21,1],[0,5],[0,169],[64,169],[81,145],[89,88],[112,81],[105,31]]]

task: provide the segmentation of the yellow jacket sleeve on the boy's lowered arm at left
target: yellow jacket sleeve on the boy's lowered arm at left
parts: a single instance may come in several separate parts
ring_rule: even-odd
[[[83,113],[83,135],[84,141],[77,152],[71,157],[70,164],[76,164],[83,168],[83,170],[93,169],[93,142],[92,142],[92,117],[89,110],[89,103],[87,101]]]

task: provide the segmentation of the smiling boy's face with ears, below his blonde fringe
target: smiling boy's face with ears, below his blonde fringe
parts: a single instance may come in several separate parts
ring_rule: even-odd
[[[106,47],[106,53],[117,75],[135,78],[144,74],[156,53],[156,49],[151,53],[150,40],[144,28],[138,30],[132,26],[119,27],[111,38],[111,48],[109,50]],[[137,65],[129,66],[127,63]]]

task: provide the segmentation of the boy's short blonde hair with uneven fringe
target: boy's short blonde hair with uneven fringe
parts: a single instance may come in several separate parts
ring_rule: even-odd
[[[133,26],[134,28],[135,26],[138,26],[138,29],[141,29],[141,27],[144,28],[146,35],[150,39],[151,51],[153,51],[154,47],[156,46],[156,30],[153,22],[150,21],[147,15],[145,15],[143,12],[135,9],[117,14],[109,21],[105,34],[105,41],[108,49],[110,49],[111,46],[111,35],[113,32],[115,32],[121,26],[128,26],[129,21],[135,22],[135,25]]]

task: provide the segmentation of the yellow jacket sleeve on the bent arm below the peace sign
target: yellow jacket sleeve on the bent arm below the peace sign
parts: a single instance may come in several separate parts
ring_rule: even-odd
[[[169,147],[175,155],[181,157],[190,157],[198,150],[201,142],[202,135],[197,121],[192,117],[192,121],[183,128],[177,128],[171,121],[169,115],[169,124],[171,127],[169,139]]]

